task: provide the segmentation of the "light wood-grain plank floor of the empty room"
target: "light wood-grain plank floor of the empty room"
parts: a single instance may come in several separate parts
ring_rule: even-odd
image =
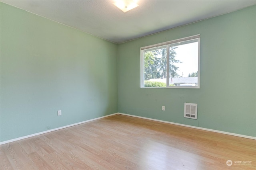
[[[256,169],[253,139],[124,115],[4,144],[0,153],[1,170]]]

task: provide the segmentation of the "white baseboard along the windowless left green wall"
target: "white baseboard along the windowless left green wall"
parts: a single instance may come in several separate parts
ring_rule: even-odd
[[[55,129],[50,129],[48,131],[42,131],[42,132],[39,132],[39,133],[34,133],[34,134],[31,134],[31,135],[27,135],[27,136],[23,136],[23,137],[18,137],[18,138],[15,138],[15,139],[10,139],[8,141],[0,142],[0,145],[6,144],[6,143],[10,143],[10,142],[14,142],[14,141],[19,141],[21,139],[26,139],[26,138],[33,137],[33,136],[36,136],[36,135],[42,135],[44,133],[48,133],[48,132],[52,132],[52,131],[57,131],[57,130],[64,129],[64,128],[67,128],[67,127],[71,127],[71,126],[75,126],[75,125],[80,125],[82,123],[86,123],[86,122],[89,122],[89,121],[94,121],[94,120],[97,120],[97,119],[102,119],[104,117],[108,117],[108,116],[112,116],[112,115],[116,115],[116,114],[118,114],[118,113],[113,113],[113,114],[110,114],[110,115],[106,115],[106,116],[102,116],[102,117],[97,117],[97,118],[86,120],[86,121],[81,121],[81,122],[74,123],[74,124],[71,124],[71,125],[66,125],[66,126],[55,128]]]

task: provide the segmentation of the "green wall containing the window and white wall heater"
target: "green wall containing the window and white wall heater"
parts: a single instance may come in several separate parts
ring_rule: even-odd
[[[200,89],[140,88],[140,47],[196,34]],[[118,112],[256,137],[255,68],[256,6],[122,43]],[[197,120],[184,118],[184,102],[198,104]]]

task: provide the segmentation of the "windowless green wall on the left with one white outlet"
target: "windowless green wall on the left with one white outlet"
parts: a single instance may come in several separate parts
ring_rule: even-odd
[[[1,141],[118,111],[116,44],[0,5]]]

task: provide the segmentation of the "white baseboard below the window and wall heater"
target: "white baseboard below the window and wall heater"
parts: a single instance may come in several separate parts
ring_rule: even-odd
[[[191,125],[184,125],[184,124],[181,124],[181,123],[174,123],[174,122],[170,122],[170,121],[151,119],[151,118],[148,118],[148,117],[130,115],[130,114],[126,114],[126,113],[117,113],[117,114],[126,115],[126,116],[132,116],[132,117],[138,117],[138,118],[141,118],[141,119],[148,119],[148,120],[152,120],[152,121],[159,121],[159,122],[169,123],[169,124],[173,124],[173,125],[179,125],[179,126],[184,126],[184,127],[191,127],[191,128],[194,128],[194,129],[200,129],[200,130],[204,130],[204,131],[211,131],[211,132],[222,133],[222,134],[226,134],[226,135],[232,135],[232,136],[237,136],[237,137],[243,137],[243,138],[248,138],[248,139],[256,140],[256,137],[240,135],[240,134],[236,134],[236,133],[230,133],[230,132],[225,132],[225,131],[218,131],[218,130],[214,130],[214,129],[207,129],[207,128],[196,127],[196,126],[191,126]]]

